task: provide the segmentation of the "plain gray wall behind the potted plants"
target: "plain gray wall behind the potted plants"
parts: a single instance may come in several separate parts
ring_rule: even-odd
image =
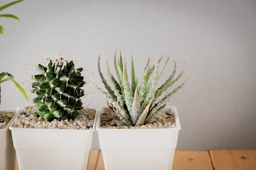
[[[14,74],[27,91],[35,63],[46,63],[43,54],[65,52],[85,68],[85,105],[100,108],[105,98],[90,83],[95,74],[102,86],[100,53],[112,50],[111,63],[117,48],[127,62],[134,55],[136,72],[164,53],[178,71],[186,61],[190,73],[170,102],[181,119],[178,149],[256,149],[256,1],[26,0],[1,13],[21,21],[0,18],[0,72]],[[170,62],[161,82],[172,68]],[[1,107],[28,105],[11,82],[1,87]]]

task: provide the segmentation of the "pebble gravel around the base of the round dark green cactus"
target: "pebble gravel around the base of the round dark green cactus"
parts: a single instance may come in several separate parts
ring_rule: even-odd
[[[23,108],[18,118],[14,120],[14,128],[90,130],[96,115],[95,109],[83,108],[78,111],[80,113],[78,118],[46,121],[33,113],[35,108],[36,106]]]

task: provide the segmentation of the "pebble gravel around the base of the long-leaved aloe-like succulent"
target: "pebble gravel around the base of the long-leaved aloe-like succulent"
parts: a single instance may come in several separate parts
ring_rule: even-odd
[[[141,126],[127,126],[116,113],[110,111],[102,114],[102,124],[100,128],[107,129],[163,129],[163,128],[176,128],[174,114],[170,112],[159,112],[153,115],[151,120],[146,125]]]

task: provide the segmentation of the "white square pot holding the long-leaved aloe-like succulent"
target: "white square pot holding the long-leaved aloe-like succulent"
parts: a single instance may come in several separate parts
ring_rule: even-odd
[[[169,129],[100,128],[102,113],[108,109],[98,110],[96,124],[106,170],[171,169],[181,130],[174,106],[164,109],[174,113],[176,128]]]

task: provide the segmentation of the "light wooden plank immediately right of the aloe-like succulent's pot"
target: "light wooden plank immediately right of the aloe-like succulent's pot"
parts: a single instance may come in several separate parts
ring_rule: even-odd
[[[207,151],[176,151],[173,170],[213,170]]]

